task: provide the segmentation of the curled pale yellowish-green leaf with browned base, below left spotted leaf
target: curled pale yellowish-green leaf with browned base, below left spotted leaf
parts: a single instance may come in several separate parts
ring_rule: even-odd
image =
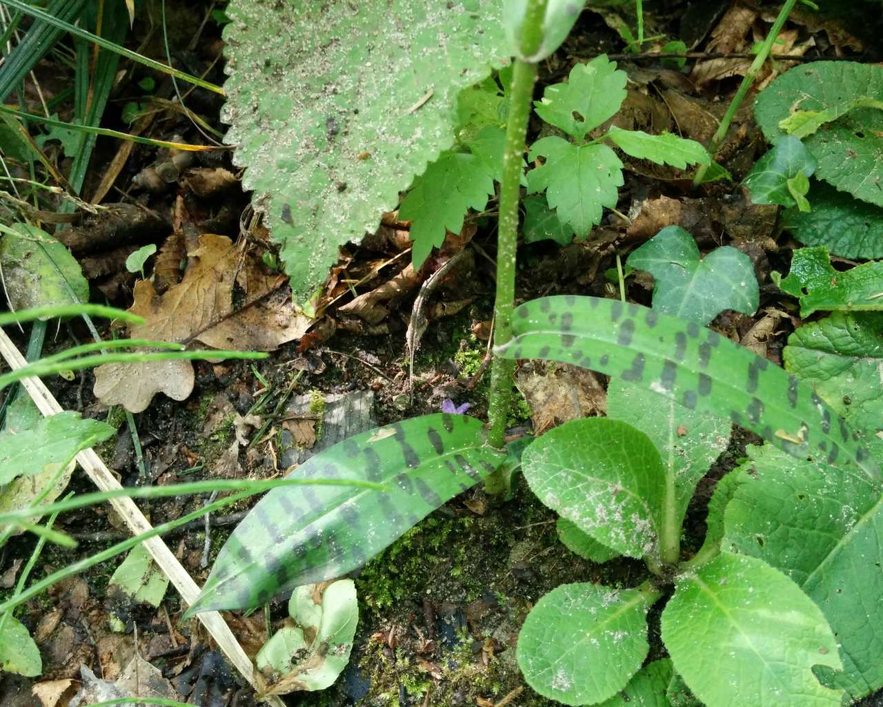
[[[286,695],[331,687],[350,661],[358,624],[355,585],[338,580],[327,587],[298,587],[288,611],[295,625],[276,631],[254,658],[272,683],[270,692]]]

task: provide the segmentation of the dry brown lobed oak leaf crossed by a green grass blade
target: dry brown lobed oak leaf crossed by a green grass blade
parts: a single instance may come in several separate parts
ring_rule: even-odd
[[[250,256],[238,268],[240,254],[226,236],[206,233],[199,247],[188,254],[192,265],[180,283],[158,295],[147,280],[135,284],[130,312],[144,323],[130,327],[132,338],[190,344],[202,341],[217,348],[271,350],[302,336],[306,324],[276,300],[260,302],[271,293],[275,277],[258,277]],[[245,282],[246,301],[260,302],[233,313],[233,284]],[[291,298],[288,298],[289,302]],[[264,304],[273,308],[268,316]],[[291,305],[289,305],[291,307]],[[184,400],[193,390],[190,361],[109,363],[95,369],[95,397],[106,405],[122,405],[132,413],[147,409],[157,392]]]

